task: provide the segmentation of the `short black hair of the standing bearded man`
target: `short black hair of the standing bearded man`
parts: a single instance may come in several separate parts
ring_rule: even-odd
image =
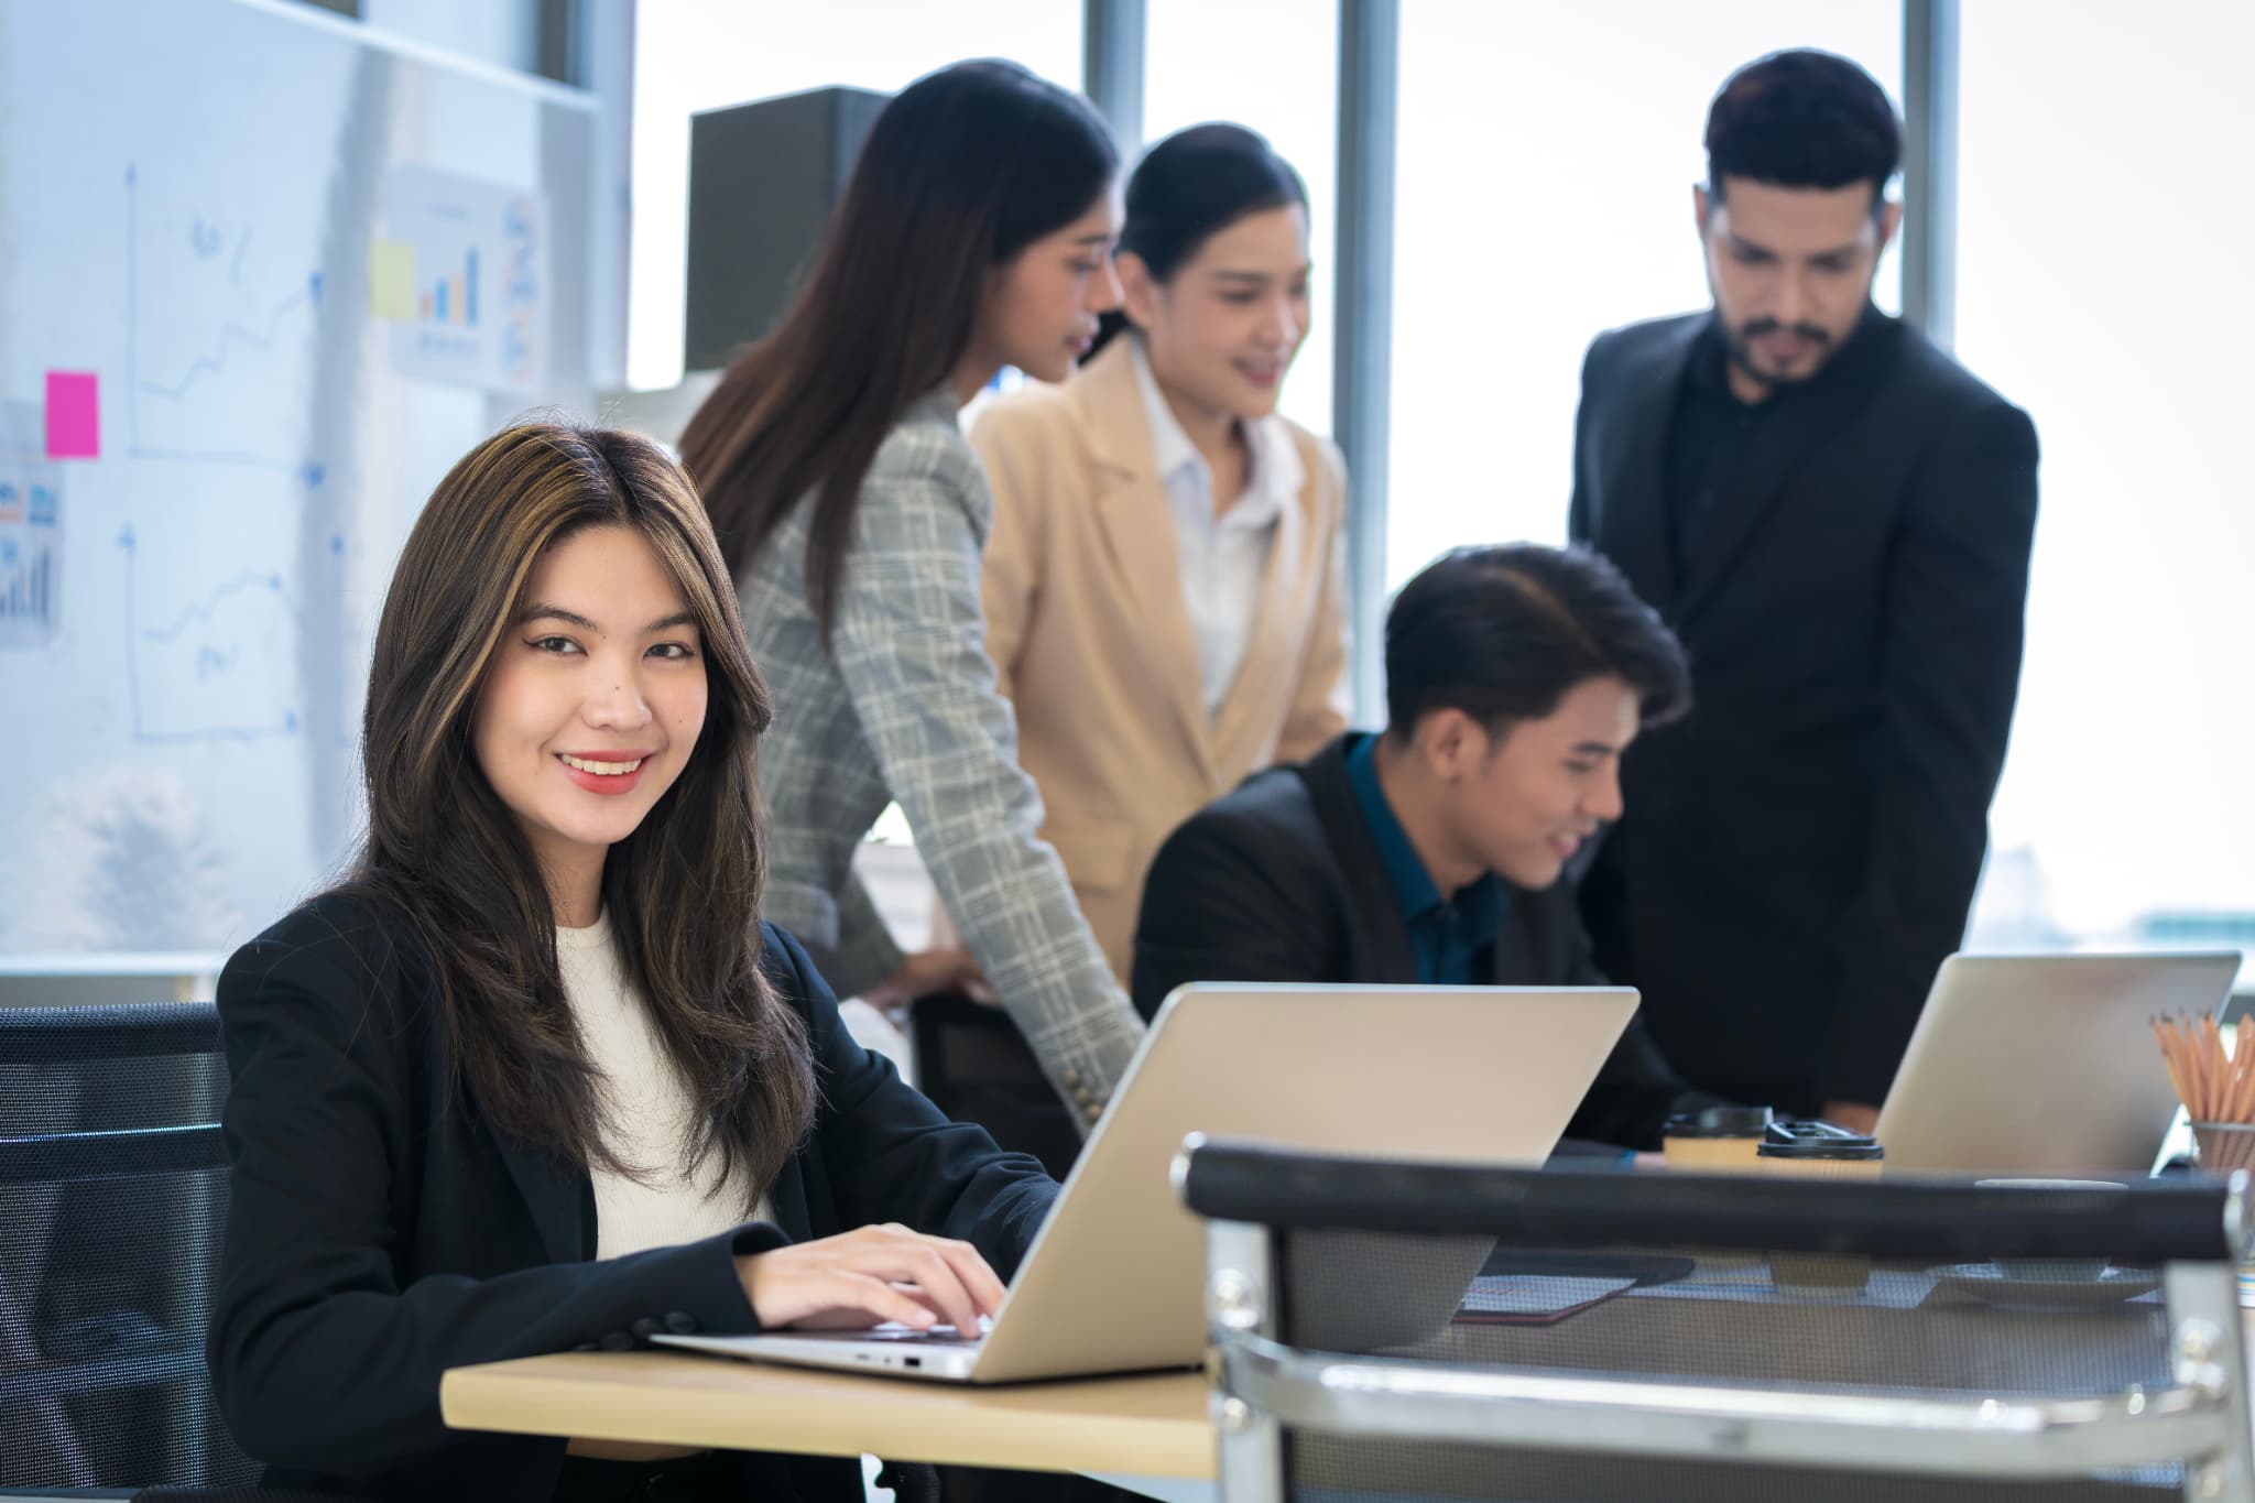
[[[1831,52],[1772,52],[1730,74],[1707,110],[1707,192],[1723,178],[1770,187],[1872,185],[1872,207],[1903,164],[1903,124],[1887,92]]]

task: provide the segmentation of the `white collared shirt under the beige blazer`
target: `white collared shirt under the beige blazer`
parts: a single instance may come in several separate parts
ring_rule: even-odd
[[[1152,451],[1159,462],[1159,484],[1175,514],[1175,554],[1182,559],[1182,604],[1191,615],[1191,638],[1197,642],[1197,687],[1211,719],[1229,687],[1238,681],[1245,651],[1254,640],[1261,613],[1261,586],[1267,579],[1270,550],[1276,545],[1276,518],[1297,505],[1308,473],[1299,446],[1276,415],[1245,426],[1245,491],[1220,516],[1213,514],[1213,466],[1182,430],[1175,410],[1166,406],[1159,381],[1150,374],[1143,340],[1128,336],[1134,354],[1134,379],[1143,392],[1143,415],[1150,419]]]

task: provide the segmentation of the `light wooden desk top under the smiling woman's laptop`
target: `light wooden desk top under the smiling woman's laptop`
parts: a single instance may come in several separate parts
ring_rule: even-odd
[[[1213,1478],[1202,1372],[972,1388],[688,1352],[564,1352],[453,1368],[437,1397],[465,1431]]]

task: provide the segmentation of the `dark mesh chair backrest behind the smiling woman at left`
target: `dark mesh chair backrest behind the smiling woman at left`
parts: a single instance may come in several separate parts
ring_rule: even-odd
[[[226,1088],[210,1003],[0,1007],[0,1487],[257,1478],[203,1366]]]

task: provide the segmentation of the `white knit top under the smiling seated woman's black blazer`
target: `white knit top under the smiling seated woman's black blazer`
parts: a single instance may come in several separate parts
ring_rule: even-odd
[[[769,1219],[767,1197],[744,1210],[751,1199],[744,1179],[722,1176],[717,1156],[688,1176],[690,1095],[665,1057],[643,989],[620,967],[611,915],[586,928],[557,928],[557,962],[580,1041],[609,1082],[604,1145],[643,1170],[636,1183],[593,1165],[595,1257],[679,1246]]]

